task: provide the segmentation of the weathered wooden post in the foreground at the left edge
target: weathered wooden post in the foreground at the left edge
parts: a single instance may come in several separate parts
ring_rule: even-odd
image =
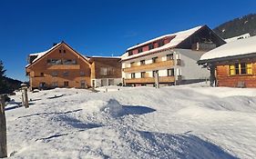
[[[1,95],[0,104],[0,158],[7,157],[5,95]]]

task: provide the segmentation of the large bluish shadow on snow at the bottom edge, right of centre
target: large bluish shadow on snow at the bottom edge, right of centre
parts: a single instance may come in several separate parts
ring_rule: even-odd
[[[237,158],[225,152],[220,146],[204,141],[193,134],[162,134],[138,131],[145,141],[144,145],[134,141],[133,151],[142,151],[152,157],[159,158],[197,158],[197,159],[233,159]],[[148,147],[151,147],[148,149]]]

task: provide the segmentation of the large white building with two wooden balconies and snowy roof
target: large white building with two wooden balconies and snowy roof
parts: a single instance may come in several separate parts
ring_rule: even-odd
[[[134,45],[121,56],[124,84],[154,85],[156,78],[162,85],[205,80],[210,73],[197,61],[225,43],[207,25],[202,25]]]

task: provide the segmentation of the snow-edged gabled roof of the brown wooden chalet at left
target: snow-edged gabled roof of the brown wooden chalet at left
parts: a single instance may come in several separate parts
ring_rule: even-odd
[[[36,58],[28,65],[26,65],[26,68],[31,66],[31,65],[34,65],[39,59],[43,58],[45,55],[49,54],[51,51],[53,51],[54,49],[56,49],[59,45],[62,45],[62,44],[65,44],[67,45],[64,41],[62,41],[61,43],[58,43],[54,46],[52,46],[51,48],[49,48],[48,50],[44,51],[44,52],[40,52],[40,53],[33,53],[33,54],[30,54],[29,56],[36,56]],[[80,55],[76,50],[74,50],[71,46],[67,45],[67,47],[69,47],[71,50],[73,50],[77,55],[81,56],[86,62],[87,64],[88,63],[88,59],[86,56],[84,55]]]

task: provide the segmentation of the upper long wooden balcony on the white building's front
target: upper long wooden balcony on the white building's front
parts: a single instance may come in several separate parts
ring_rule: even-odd
[[[168,60],[168,61],[161,61],[158,63],[148,64],[148,65],[136,65],[131,66],[128,68],[124,68],[125,73],[136,73],[141,71],[148,71],[148,70],[157,70],[159,68],[167,67],[174,65],[174,60]]]

